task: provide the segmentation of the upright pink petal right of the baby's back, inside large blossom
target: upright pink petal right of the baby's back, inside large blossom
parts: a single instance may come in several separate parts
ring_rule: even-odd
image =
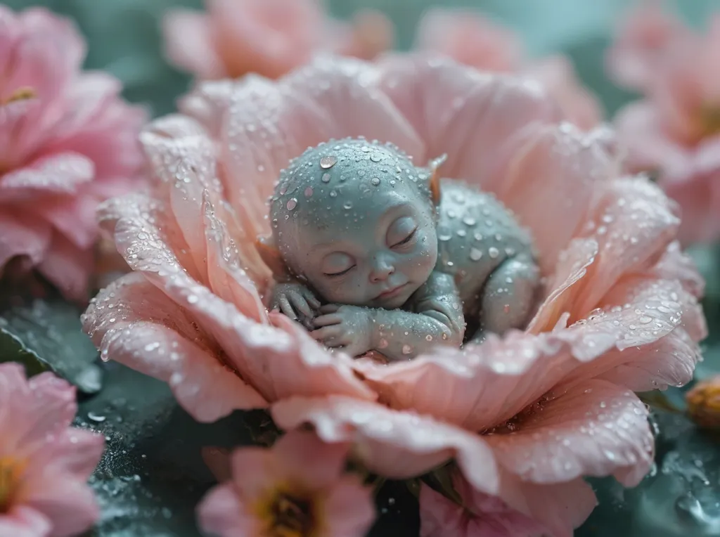
[[[548,274],[585,222],[600,185],[617,172],[616,163],[600,144],[590,142],[590,135],[568,123],[536,125],[524,134],[508,144],[509,159],[498,163],[489,182],[531,230]]]

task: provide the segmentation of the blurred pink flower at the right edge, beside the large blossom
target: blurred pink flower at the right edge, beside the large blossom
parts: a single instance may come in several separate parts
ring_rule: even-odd
[[[618,112],[632,171],[650,171],[682,209],[683,243],[720,238],[720,17],[652,63],[644,98]]]

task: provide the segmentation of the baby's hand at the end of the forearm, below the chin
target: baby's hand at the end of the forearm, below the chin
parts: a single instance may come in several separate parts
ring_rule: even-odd
[[[327,304],[320,313],[312,322],[318,328],[310,333],[313,338],[350,356],[372,350],[373,323],[366,307]]]

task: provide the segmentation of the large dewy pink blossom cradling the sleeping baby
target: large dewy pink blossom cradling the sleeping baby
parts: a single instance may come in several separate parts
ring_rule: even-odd
[[[474,489],[557,536],[582,518],[567,505],[594,505],[583,476],[642,479],[653,443],[633,391],[691,378],[703,281],[675,242],[674,204],[621,173],[606,135],[564,122],[525,78],[425,55],[210,82],[181,110],[142,135],[154,191],[101,210],[133,269],[84,316],[104,358],[165,380],[199,420],[271,406],[280,427],[354,443],[387,477],[454,458]],[[348,135],[418,163],[446,153],[444,175],[533,231],[546,287],[526,330],[382,365],[267,312],[265,200],[289,159]]]

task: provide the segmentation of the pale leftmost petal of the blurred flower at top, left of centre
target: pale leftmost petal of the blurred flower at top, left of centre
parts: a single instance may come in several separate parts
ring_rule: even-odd
[[[171,63],[199,78],[222,78],[225,66],[215,50],[207,14],[172,9],[163,17],[165,55]]]

